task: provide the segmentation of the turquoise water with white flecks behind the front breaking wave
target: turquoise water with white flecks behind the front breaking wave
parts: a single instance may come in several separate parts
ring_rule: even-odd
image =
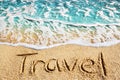
[[[0,16],[6,22],[13,15],[19,22],[24,16],[72,23],[119,23],[120,0],[2,0]],[[19,14],[18,14],[19,13]],[[16,15],[15,15],[16,14]]]

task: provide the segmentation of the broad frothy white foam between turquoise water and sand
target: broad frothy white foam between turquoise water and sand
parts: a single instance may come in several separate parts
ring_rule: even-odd
[[[31,18],[27,18],[30,19]],[[35,21],[40,21],[40,19],[32,19]],[[44,20],[41,19],[41,21],[43,22]],[[41,22],[40,21],[40,22]],[[48,21],[49,20],[46,20]],[[52,21],[52,20],[51,20]],[[61,25],[59,25],[59,23],[62,23]],[[69,28],[66,26],[66,24],[74,26],[86,26],[85,28],[85,32],[80,31],[77,26],[75,26],[75,28],[71,28],[73,29],[73,32],[75,32],[75,34],[77,34],[78,36],[74,36],[72,35],[72,32],[70,33],[70,26]],[[37,25],[36,29],[37,30],[41,30],[42,34],[39,32],[35,32],[33,26],[31,26],[30,28],[25,29],[23,35],[26,35],[27,37],[25,38],[25,42],[21,43],[20,40],[22,39],[21,37],[23,36],[21,33],[16,34],[14,33],[13,29],[9,29],[10,31],[13,30],[13,34],[11,36],[11,41],[12,38],[16,39],[16,43],[12,44],[8,43],[8,42],[1,42],[1,44],[7,44],[7,45],[12,45],[12,46],[25,46],[25,47],[30,47],[30,48],[34,48],[34,49],[45,49],[45,48],[51,48],[51,47],[55,47],[55,46],[59,46],[59,45],[65,45],[65,44],[77,44],[77,45],[84,45],[84,46],[94,46],[94,47],[101,47],[101,46],[109,46],[109,45],[113,45],[116,43],[120,42],[120,31],[117,29],[116,26],[119,26],[118,24],[109,24],[108,26],[110,27],[106,27],[105,24],[91,24],[93,26],[95,26],[95,35],[94,33],[90,33],[92,31],[91,29],[91,25],[84,25],[84,24],[73,24],[73,23],[65,23],[62,21],[56,21],[53,20],[52,23],[50,22],[50,25],[54,25],[54,33],[50,27],[42,27]],[[59,25],[59,26],[58,26]],[[102,26],[103,25],[103,26]],[[71,27],[72,27],[71,26]],[[19,26],[20,27],[20,26]],[[64,29],[67,27],[67,31]],[[10,27],[11,28],[11,27]],[[4,31],[4,29],[3,29]],[[19,31],[19,30],[18,30]],[[2,32],[2,31],[1,31]],[[5,31],[4,31],[5,32]],[[16,32],[16,31],[15,31]],[[30,34],[29,34],[30,32]],[[28,33],[28,34],[26,34]],[[34,38],[32,38],[31,33],[36,33],[38,39],[35,41]],[[56,34],[60,34],[62,35],[61,37],[58,37]],[[19,35],[19,38],[18,38]],[[6,38],[7,34],[5,33],[4,35],[2,34],[1,38]],[[20,37],[21,36],[21,37]],[[43,38],[43,39],[42,39]],[[48,41],[48,39],[51,39],[50,42]],[[4,39],[6,40],[6,39]],[[93,42],[92,42],[93,40]],[[55,44],[53,42],[56,42]],[[31,44],[26,44],[26,43],[31,43]],[[32,45],[35,44],[35,45]],[[50,44],[49,44],[50,43]],[[48,45],[49,44],[49,45]]]

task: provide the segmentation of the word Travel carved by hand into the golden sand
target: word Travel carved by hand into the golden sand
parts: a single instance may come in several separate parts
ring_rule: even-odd
[[[27,54],[18,54],[17,56],[23,57],[23,60],[21,62],[21,69],[20,74],[24,74],[25,72],[25,65],[26,65],[26,59],[29,56],[37,55],[38,53],[27,53]],[[103,58],[103,54],[100,53],[98,55],[98,59],[95,61],[90,58],[85,58],[83,60],[74,59],[72,60],[72,64],[69,64],[69,61],[66,59],[59,60],[55,58],[46,60],[33,60],[32,65],[29,67],[29,74],[35,74],[35,72],[39,67],[42,67],[42,70],[44,70],[47,73],[52,73],[54,71],[58,72],[66,72],[66,71],[74,71],[75,69],[88,74],[95,74],[100,72],[100,74],[103,74],[102,76],[107,76],[106,68],[105,68],[105,62]]]

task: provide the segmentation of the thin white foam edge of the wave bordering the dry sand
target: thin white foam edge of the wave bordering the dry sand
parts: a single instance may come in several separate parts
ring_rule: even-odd
[[[107,47],[107,46],[112,46],[115,44],[120,43],[120,40],[112,40],[112,41],[108,41],[108,42],[104,42],[104,43],[88,43],[85,42],[83,40],[80,39],[76,39],[76,40],[70,40],[68,42],[65,43],[59,43],[59,44],[54,44],[54,45],[50,45],[50,46],[40,46],[40,45],[32,45],[32,44],[27,44],[27,43],[8,43],[8,42],[0,42],[1,45],[10,45],[10,46],[24,46],[24,47],[28,47],[28,48],[33,48],[33,49],[48,49],[48,48],[53,48],[53,47],[57,47],[57,46],[62,46],[62,45],[67,45],[67,44],[76,44],[76,45],[80,45],[80,46],[91,46],[91,47]]]

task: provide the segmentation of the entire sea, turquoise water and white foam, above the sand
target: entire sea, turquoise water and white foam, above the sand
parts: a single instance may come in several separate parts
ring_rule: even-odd
[[[120,42],[120,0],[0,0],[0,44],[35,49]]]

